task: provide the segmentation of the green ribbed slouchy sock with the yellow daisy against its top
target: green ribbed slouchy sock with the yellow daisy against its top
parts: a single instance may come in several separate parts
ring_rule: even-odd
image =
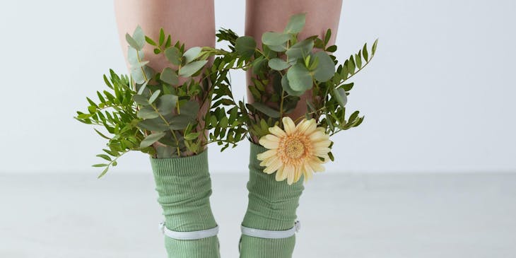
[[[251,143],[249,163],[250,177],[247,182],[249,204],[242,225],[261,230],[288,230],[295,223],[295,209],[303,189],[303,180],[291,185],[278,182],[273,174],[263,172],[264,167],[256,156],[266,148]],[[292,257],[295,235],[290,238],[266,239],[242,235],[240,258],[287,258]]]

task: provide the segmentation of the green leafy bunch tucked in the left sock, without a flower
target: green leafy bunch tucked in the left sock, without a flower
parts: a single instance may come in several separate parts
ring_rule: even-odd
[[[97,92],[98,101],[88,100],[88,112],[77,112],[78,121],[103,127],[95,131],[107,139],[107,148],[98,157],[105,163],[93,165],[109,168],[129,151],[141,151],[154,158],[177,158],[204,151],[206,144],[217,142],[235,146],[247,131],[236,109],[225,95],[230,95],[228,71],[245,64],[222,49],[192,47],[175,42],[160,30],[159,38],[145,36],[140,27],[126,35],[127,58],[131,76],[110,70],[104,76],[107,90]],[[153,54],[163,55],[169,65],[161,71],[148,66],[143,47],[153,47]],[[226,54],[226,55],[225,55]],[[209,59],[213,57],[213,65]],[[216,102],[211,105],[212,96]],[[232,95],[231,95],[232,97]],[[206,115],[201,111],[205,107]],[[226,118],[222,118],[222,116]],[[213,129],[207,138],[204,130]]]

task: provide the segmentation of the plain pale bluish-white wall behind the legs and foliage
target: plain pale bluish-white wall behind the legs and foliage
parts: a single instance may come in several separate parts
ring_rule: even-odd
[[[380,37],[338,134],[332,172],[516,170],[516,1],[344,1],[336,56]],[[216,27],[243,34],[245,1],[216,0]],[[125,73],[112,1],[0,4],[0,172],[99,172],[104,141],[76,122],[102,74]],[[242,73],[233,74],[242,97]],[[247,173],[248,147],[210,148],[212,172]],[[150,172],[131,153],[111,172]]]

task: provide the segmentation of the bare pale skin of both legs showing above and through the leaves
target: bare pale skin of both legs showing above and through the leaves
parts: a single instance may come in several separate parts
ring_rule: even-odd
[[[282,31],[288,18],[295,13],[306,13],[306,24],[300,33],[300,39],[319,35],[324,37],[327,29],[332,30],[330,44],[335,42],[339,27],[342,0],[246,0],[245,35],[257,39],[261,47],[262,34],[266,31]],[[119,40],[127,61],[127,42],[125,34],[131,34],[137,25],[151,38],[158,38],[160,28],[172,35],[172,42],[180,40],[185,47],[214,47],[215,45],[215,13],[213,0],[115,0],[115,16],[117,20]],[[235,21],[236,22],[236,21]],[[146,45],[143,52],[156,71],[168,65],[161,55],[155,55],[152,48]],[[129,64],[128,64],[129,67]],[[247,83],[250,74],[247,72]],[[249,85],[249,84],[247,84]],[[247,88],[247,87],[246,87]],[[247,100],[252,102],[248,93]],[[289,114],[293,119],[306,112],[306,99],[310,92],[301,97],[298,107]],[[206,112],[207,108],[201,110]]]

